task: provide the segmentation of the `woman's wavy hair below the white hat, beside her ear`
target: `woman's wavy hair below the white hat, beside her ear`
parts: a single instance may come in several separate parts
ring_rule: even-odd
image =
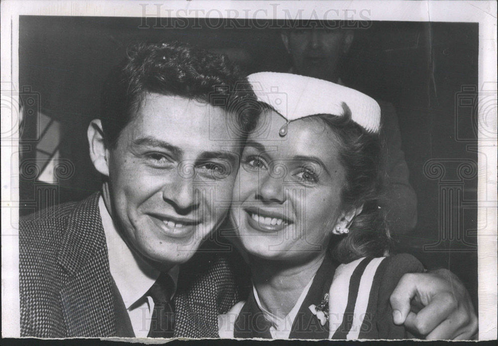
[[[349,107],[343,103],[341,116],[319,114],[310,118],[324,122],[339,138],[339,159],[346,170],[342,190],[345,210],[363,205],[345,236],[333,236],[330,250],[341,263],[385,255],[391,248],[391,237],[378,199],[381,193],[380,138],[352,120]],[[315,120],[315,121],[316,121]]]

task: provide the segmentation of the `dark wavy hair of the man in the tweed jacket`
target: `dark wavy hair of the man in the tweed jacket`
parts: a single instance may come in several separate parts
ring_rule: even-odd
[[[227,111],[227,125],[244,138],[259,108],[245,74],[226,56],[186,43],[136,43],[105,82],[101,100],[105,138],[115,147],[147,93],[180,96]]]

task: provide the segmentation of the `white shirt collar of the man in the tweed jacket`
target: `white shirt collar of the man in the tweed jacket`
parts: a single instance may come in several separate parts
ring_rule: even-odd
[[[133,303],[141,299],[154,284],[159,276],[159,270],[136,255],[126,245],[123,238],[116,230],[113,219],[106,208],[102,196],[99,198],[99,210],[102,217],[104,232],[106,234],[111,275],[121,293],[124,306],[128,309]],[[175,286],[173,294],[176,291],[178,272],[178,265],[175,265],[168,272]]]

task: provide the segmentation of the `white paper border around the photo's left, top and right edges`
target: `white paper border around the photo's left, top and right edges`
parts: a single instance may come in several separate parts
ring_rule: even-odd
[[[1,92],[14,100],[18,84],[19,15],[161,16],[239,19],[445,21],[479,23],[479,90],[497,91],[496,1],[1,1]],[[316,18],[315,18],[316,17]],[[495,99],[496,100],[496,99]],[[1,301],[2,337],[19,336],[18,234],[10,225],[19,207],[17,113],[1,108]],[[11,109],[14,109],[13,107]],[[479,340],[497,339],[497,105],[479,110],[478,269]],[[486,132],[486,133],[484,133]],[[490,133],[495,140],[489,141]],[[486,136],[486,138],[484,138]],[[484,140],[487,139],[487,140]],[[491,144],[490,144],[491,143]],[[11,160],[9,158],[12,158]]]

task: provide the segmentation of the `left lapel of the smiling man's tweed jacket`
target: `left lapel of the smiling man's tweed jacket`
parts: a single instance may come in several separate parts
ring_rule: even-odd
[[[68,219],[59,249],[66,280],[60,291],[68,337],[116,335],[112,277],[96,193]]]

